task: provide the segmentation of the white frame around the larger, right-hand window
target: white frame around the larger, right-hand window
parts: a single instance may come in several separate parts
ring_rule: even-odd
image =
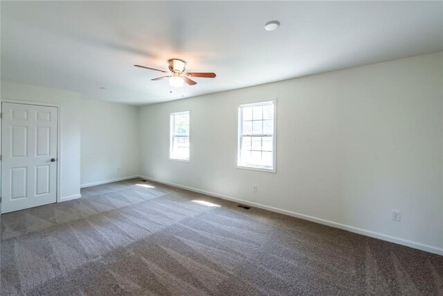
[[[266,168],[264,166],[253,166],[253,165],[242,165],[241,161],[241,153],[242,153],[242,137],[243,137],[243,107],[255,107],[260,105],[269,105],[269,103],[273,103],[274,105],[274,114],[273,114],[273,143],[272,143],[272,152],[273,152],[273,166],[272,168]],[[277,160],[277,98],[272,98],[266,101],[260,101],[255,103],[246,103],[238,105],[237,108],[237,162],[235,166],[237,168],[242,168],[245,170],[251,171],[262,171],[266,173],[276,173],[276,160]]]

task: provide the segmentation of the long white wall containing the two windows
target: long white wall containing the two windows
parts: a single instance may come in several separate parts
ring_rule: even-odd
[[[434,53],[146,105],[141,175],[443,254],[442,85]],[[236,168],[237,106],[270,98],[277,172]],[[186,110],[191,162],[174,162],[169,114]]]

